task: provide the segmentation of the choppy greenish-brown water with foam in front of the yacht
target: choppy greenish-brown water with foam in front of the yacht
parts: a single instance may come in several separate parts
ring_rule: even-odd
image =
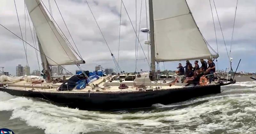
[[[33,134],[255,133],[256,82],[221,89],[186,102],[117,112],[69,109],[0,92],[0,128]]]

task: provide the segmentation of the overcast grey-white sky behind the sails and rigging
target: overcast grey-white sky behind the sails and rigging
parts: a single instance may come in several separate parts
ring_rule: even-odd
[[[27,40],[29,44],[33,45],[27,16],[25,21],[24,1],[15,0],[15,2],[20,19],[23,39]],[[45,4],[46,8],[49,9],[48,0],[42,0],[42,2]],[[94,70],[94,67],[97,65],[101,65],[103,68],[115,68],[111,53],[108,50],[108,47],[86,2],[84,0],[56,0],[56,3],[58,4],[61,14],[66,22],[71,36],[76,43],[76,46],[79,49],[79,52],[86,62],[85,64],[81,64],[80,67],[84,70],[91,71]],[[187,0],[187,3],[193,17],[195,18],[199,30],[210,46],[217,52],[209,0]],[[55,2],[50,0],[50,4],[53,18],[60,26],[60,29],[67,36],[68,40],[71,41],[68,30],[65,27]],[[139,34],[139,30],[141,28],[147,27],[145,0],[124,0],[121,13],[120,46],[119,25],[121,1],[88,0],[88,4],[90,5],[100,29],[105,36],[111,52],[114,54],[116,60],[119,59],[118,61],[121,69],[126,72],[134,72],[136,68],[136,34],[132,25],[136,29],[137,24],[137,35]],[[218,52],[220,55],[218,58],[218,69],[225,70],[226,67],[229,67],[229,59],[212,0],[211,4],[216,27]],[[236,10],[236,0],[215,0],[215,5],[220,19],[220,25],[226,42],[227,50],[229,51]],[[124,10],[124,6],[129,14],[132,24]],[[29,21],[33,29],[32,22],[31,20]],[[14,2],[12,0],[0,0],[0,24],[4,25],[21,37],[19,22]],[[139,39],[145,55],[148,57],[148,46],[143,43],[145,40],[147,40],[147,34],[140,32]],[[38,66],[34,48],[30,47],[29,45],[25,45],[25,49],[27,49],[30,72],[39,69],[39,67],[42,69],[40,56]],[[239,60],[242,59],[240,66],[238,67],[238,71],[256,72],[256,0],[238,0],[231,50],[233,68],[236,68]],[[138,59],[144,58],[144,53],[139,45]],[[193,60],[190,60],[190,62],[194,63]],[[178,63],[185,65],[185,61],[161,62],[159,63],[159,68],[161,70],[175,70]],[[0,26],[0,66],[4,67],[5,72],[15,75],[16,66],[18,66],[18,64],[21,64],[22,66],[26,65],[26,57],[22,40],[18,39],[12,33]],[[65,66],[65,68],[73,74],[75,73],[75,70],[79,70],[76,65],[68,65]],[[147,60],[137,60],[137,71],[140,69],[143,71],[149,70]]]

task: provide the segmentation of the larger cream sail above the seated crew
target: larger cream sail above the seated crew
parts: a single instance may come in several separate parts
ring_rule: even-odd
[[[156,61],[209,59],[185,0],[153,0]]]

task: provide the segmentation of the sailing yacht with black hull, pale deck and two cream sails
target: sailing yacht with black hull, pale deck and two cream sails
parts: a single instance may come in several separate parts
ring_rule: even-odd
[[[155,62],[210,59],[217,58],[218,55],[210,53],[185,0],[148,2],[151,74],[103,76],[87,84],[84,89],[62,91],[60,86],[65,82],[52,82],[50,66],[79,65],[85,61],[82,57],[76,57],[40,0],[25,0],[36,30],[46,79],[35,82],[38,78],[31,76],[15,80],[2,78],[0,91],[11,95],[42,98],[70,108],[113,110],[147,108],[156,103],[170,104],[197,96],[217,94],[221,92],[220,86],[236,82],[206,82],[207,84],[186,87],[179,76],[158,78]],[[191,54],[188,55],[188,51]]]

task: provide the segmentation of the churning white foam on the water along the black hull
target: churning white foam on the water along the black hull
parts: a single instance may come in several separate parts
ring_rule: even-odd
[[[236,126],[243,123],[244,118],[255,120],[255,97],[256,94],[252,93],[209,96],[173,105],[155,105],[156,108],[186,106],[176,110],[102,113],[59,107],[47,102],[0,92],[0,110],[12,110],[11,119],[24,120],[30,126],[43,129],[46,134],[76,134],[93,131],[136,134],[145,133],[145,130],[152,133],[154,130],[159,130],[161,133],[208,133],[218,129],[227,130],[227,128],[232,129],[228,129],[229,133],[252,133],[255,129],[251,126],[244,124],[243,127],[248,127],[247,129],[236,128]],[[191,105],[201,101],[205,102]],[[239,107],[233,107],[234,105]],[[244,108],[240,109],[240,107]],[[238,110],[239,112],[236,112]],[[207,118],[210,118],[213,123],[205,123]],[[189,126],[196,126],[196,130],[188,129]],[[166,129],[167,127],[170,129]]]

